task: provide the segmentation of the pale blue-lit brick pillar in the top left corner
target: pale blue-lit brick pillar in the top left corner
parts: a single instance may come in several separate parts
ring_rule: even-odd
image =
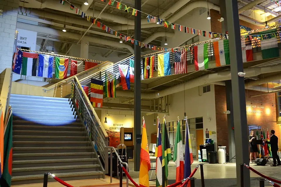
[[[0,0],[0,72],[11,68],[19,0]]]

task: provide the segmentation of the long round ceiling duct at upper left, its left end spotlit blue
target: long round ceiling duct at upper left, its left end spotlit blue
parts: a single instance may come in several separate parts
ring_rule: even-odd
[[[39,33],[44,33],[44,34],[49,34],[49,35],[54,35],[58,37],[66,37],[74,40],[79,40],[81,35],[76,34],[73,32],[63,32],[61,30],[53,29],[53,28],[48,28],[48,27],[41,27],[38,25],[32,25],[28,23],[17,23],[17,28],[19,29],[25,29],[25,30],[30,30],[34,32],[39,32]],[[87,40],[88,42],[92,43],[99,43],[103,45],[108,45],[108,46],[114,46],[114,47],[119,47],[119,48],[126,48],[128,49],[132,54],[134,53],[134,49],[127,44],[124,43],[119,43],[117,41],[112,41],[112,40],[106,40],[98,37],[92,37],[92,36],[84,36],[84,40]]]

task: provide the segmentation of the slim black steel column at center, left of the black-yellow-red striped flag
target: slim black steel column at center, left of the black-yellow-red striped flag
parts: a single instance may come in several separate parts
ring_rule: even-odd
[[[135,8],[138,11],[135,16],[135,40],[140,41],[141,29],[141,1],[135,1]],[[140,144],[141,144],[141,113],[140,113],[140,76],[141,76],[141,59],[140,46],[134,45],[135,50],[135,75],[134,75],[134,171],[140,171]]]

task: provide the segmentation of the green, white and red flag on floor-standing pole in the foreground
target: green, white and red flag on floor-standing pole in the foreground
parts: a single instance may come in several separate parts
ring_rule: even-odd
[[[175,147],[174,147],[174,160],[176,163],[176,182],[184,179],[184,150],[181,141],[181,125],[178,119]]]

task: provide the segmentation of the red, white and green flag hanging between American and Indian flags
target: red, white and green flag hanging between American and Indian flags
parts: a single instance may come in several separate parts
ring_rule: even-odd
[[[208,44],[199,44],[193,47],[195,70],[208,68]]]

